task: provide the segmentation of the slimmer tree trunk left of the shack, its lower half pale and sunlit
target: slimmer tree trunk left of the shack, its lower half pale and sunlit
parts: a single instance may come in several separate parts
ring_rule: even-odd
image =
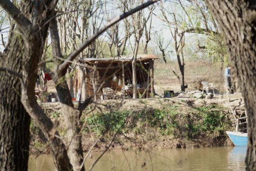
[[[51,22],[50,32],[52,38],[53,56],[58,56],[62,58],[63,56],[61,54],[60,38],[58,35],[56,20],[53,20]],[[58,59],[54,60],[57,63]],[[61,102],[63,118],[67,126],[67,139],[69,142],[67,155],[70,159],[70,163],[72,164],[74,171],[84,171],[83,166],[80,168],[83,161],[83,151],[80,134],[82,127],[82,123],[80,122],[81,111],[74,108],[74,105],[71,101],[71,95],[67,86],[67,82],[65,80],[62,80],[62,78],[65,77],[65,74],[66,71],[62,71],[57,68],[54,82]]]

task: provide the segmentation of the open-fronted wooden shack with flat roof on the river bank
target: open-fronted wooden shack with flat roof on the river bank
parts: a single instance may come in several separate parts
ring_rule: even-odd
[[[155,59],[158,57],[152,54],[137,56],[137,98],[154,97]],[[81,96],[84,99],[91,96],[94,96],[95,99],[132,98],[132,56],[87,58],[79,60],[79,63],[84,71],[81,70],[81,66],[77,67],[74,80],[74,93],[77,94],[77,97],[85,93],[86,96]],[[82,72],[85,72],[86,77],[82,77]],[[85,89],[81,88],[83,81],[86,83]],[[94,93],[96,90],[98,90],[97,93]],[[112,98],[111,95],[113,95]],[[82,98],[82,100],[84,99]]]

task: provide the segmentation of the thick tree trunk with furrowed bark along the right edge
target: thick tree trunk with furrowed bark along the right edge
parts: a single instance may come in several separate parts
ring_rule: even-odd
[[[222,27],[248,112],[248,171],[256,170],[256,1],[206,0]]]

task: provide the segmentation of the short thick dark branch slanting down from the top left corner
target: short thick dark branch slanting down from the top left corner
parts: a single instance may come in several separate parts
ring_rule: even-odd
[[[0,6],[12,16],[13,20],[17,22],[22,30],[27,30],[31,22],[14,6],[10,0],[0,0]]]

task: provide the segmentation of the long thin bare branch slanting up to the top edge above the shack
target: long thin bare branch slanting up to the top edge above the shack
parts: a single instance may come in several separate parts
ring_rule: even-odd
[[[111,20],[110,22],[108,22],[108,24],[106,26],[102,27],[96,33],[94,33],[90,38],[88,38],[78,49],[74,50],[70,55],[68,55],[67,60],[71,60],[71,61],[74,60],[79,55],[79,53],[81,53],[87,46],[89,46],[95,39],[97,39],[97,37],[99,37],[102,33],[104,33],[109,27],[115,25],[117,22],[132,15],[133,13],[136,13],[136,12],[140,11],[141,9],[154,4],[157,1],[159,1],[159,0],[149,0],[148,2],[142,4],[138,7],[135,7],[133,9],[131,9],[130,11],[121,14],[119,17]],[[69,65],[69,62],[65,60],[59,66],[59,68],[61,70],[67,70],[68,65]]]

